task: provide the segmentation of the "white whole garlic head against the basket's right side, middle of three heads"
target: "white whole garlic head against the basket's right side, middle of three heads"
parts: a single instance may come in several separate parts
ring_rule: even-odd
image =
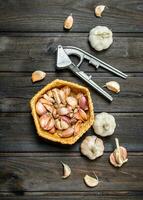
[[[112,135],[116,128],[116,122],[113,115],[102,112],[95,116],[93,123],[94,132],[102,137]]]

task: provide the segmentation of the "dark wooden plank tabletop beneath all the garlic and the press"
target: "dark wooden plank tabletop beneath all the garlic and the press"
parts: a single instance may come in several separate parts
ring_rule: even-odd
[[[102,18],[94,16],[96,0],[0,0],[0,199],[143,199],[143,1],[105,0]],[[63,21],[73,13],[74,26],[63,30]],[[111,48],[94,52],[88,33],[96,25],[112,29]],[[51,47],[73,45],[128,74],[123,80],[105,70],[83,63],[101,86],[115,80],[121,92],[109,104],[90,88],[95,112],[113,113],[117,128],[105,138],[105,153],[96,161],[81,156],[82,137],[73,146],[40,139],[30,114],[29,101],[47,83],[59,78],[86,85],[68,71],[57,73],[56,54]],[[44,81],[33,84],[31,73],[47,72]],[[86,85],[87,86],[87,85]],[[93,135],[90,129],[86,135]],[[109,162],[114,138],[129,152],[120,169]],[[72,175],[63,180],[63,161]],[[85,174],[95,171],[100,183],[88,188]]]

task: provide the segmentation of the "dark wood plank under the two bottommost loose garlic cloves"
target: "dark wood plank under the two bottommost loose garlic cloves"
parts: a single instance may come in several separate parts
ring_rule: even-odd
[[[32,156],[0,157],[0,191],[1,192],[90,192],[95,191],[142,191],[143,190],[143,155],[129,154],[129,161],[121,169],[108,163],[108,154],[97,161],[90,161],[78,156],[50,157],[44,154]],[[72,175],[63,180],[63,161],[72,169]],[[136,163],[136,164],[135,164]],[[85,174],[99,177],[96,188],[85,186]]]

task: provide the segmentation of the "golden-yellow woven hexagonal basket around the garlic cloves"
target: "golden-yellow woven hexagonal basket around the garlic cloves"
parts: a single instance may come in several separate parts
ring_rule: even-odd
[[[69,138],[61,138],[58,135],[58,131],[55,132],[54,134],[49,133],[48,131],[45,131],[41,128],[40,123],[39,123],[39,116],[36,113],[36,109],[35,109],[35,105],[37,103],[37,101],[39,100],[39,98],[48,90],[51,90],[52,88],[61,88],[63,86],[69,86],[72,91],[74,93],[79,93],[82,92],[86,95],[87,100],[88,100],[88,106],[89,106],[89,110],[87,112],[88,115],[88,120],[86,122],[83,123],[80,132],[76,135],[76,136],[71,136]],[[41,89],[30,101],[30,106],[32,109],[32,116],[34,118],[34,123],[37,129],[37,133],[39,136],[41,136],[42,138],[54,141],[54,142],[59,142],[62,144],[74,144],[93,124],[94,121],[94,110],[93,110],[93,103],[92,103],[92,99],[90,96],[90,92],[86,87],[80,86],[76,83],[72,83],[72,82],[68,82],[68,81],[63,81],[63,80],[59,80],[56,79],[54,81],[52,81],[51,83],[47,84],[43,89]]]

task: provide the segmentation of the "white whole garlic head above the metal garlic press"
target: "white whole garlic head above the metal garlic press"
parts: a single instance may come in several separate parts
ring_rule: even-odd
[[[112,44],[112,35],[112,31],[108,27],[96,26],[89,33],[89,42],[95,50],[102,51]]]

